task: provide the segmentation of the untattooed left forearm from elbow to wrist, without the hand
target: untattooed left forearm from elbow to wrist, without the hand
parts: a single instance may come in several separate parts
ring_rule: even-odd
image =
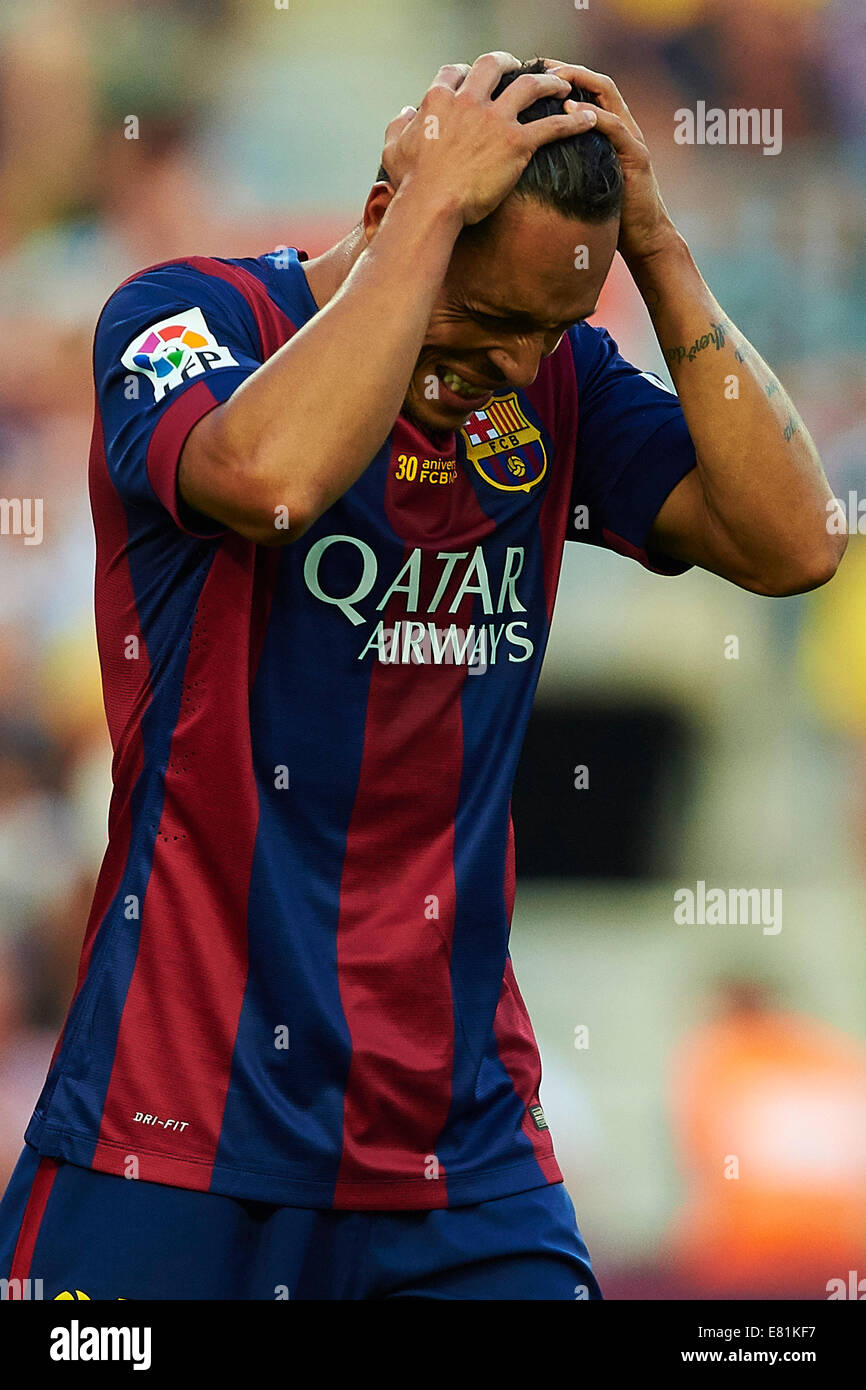
[[[291,530],[271,538],[295,538],[381,448],[400,411],[460,227],[456,210],[407,179],[334,297],[202,421],[207,432],[199,448],[210,453],[202,477],[214,477],[214,459],[224,474],[234,470],[238,506],[249,499],[261,513],[261,539],[279,506],[288,509]],[[225,475],[217,481],[224,496]],[[207,510],[206,498],[189,500]]]

